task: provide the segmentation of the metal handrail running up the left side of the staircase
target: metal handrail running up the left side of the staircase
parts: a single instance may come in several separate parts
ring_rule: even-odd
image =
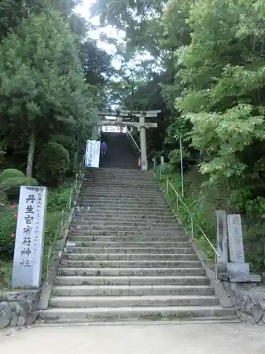
[[[54,234],[54,239],[52,241],[51,246],[49,246],[49,252],[48,252],[48,257],[47,257],[46,282],[48,281],[49,261],[50,261],[50,258],[52,256],[52,251],[54,250],[55,242],[57,241],[57,238],[61,234],[61,231],[62,231],[62,229],[64,227],[65,218],[68,215],[67,210],[69,212],[71,211],[73,198],[76,195],[76,191],[78,189],[78,180],[83,180],[82,167],[84,165],[84,161],[85,161],[85,156],[83,157],[83,161],[80,163],[78,173],[76,173],[76,179],[75,179],[75,181],[73,183],[73,187],[70,190],[70,195],[69,195],[69,198],[68,198],[68,200],[66,202],[66,206],[64,207],[63,210],[61,210],[61,219],[60,219],[59,225],[57,227],[57,232]]]

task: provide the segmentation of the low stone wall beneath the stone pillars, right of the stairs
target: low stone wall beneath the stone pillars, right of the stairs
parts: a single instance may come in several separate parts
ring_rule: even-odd
[[[241,321],[265,325],[265,287],[222,282]]]

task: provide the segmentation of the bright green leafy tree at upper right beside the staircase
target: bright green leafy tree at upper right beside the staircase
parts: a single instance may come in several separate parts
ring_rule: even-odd
[[[252,189],[247,180],[259,174],[265,138],[261,6],[198,1],[189,16],[192,42],[177,51],[186,88],[177,108],[192,123],[192,145],[204,152],[201,173],[213,183],[229,178],[231,188]]]

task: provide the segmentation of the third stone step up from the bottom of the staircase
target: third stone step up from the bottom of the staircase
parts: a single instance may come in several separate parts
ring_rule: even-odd
[[[196,295],[213,296],[208,285],[55,285],[53,296],[143,296]]]

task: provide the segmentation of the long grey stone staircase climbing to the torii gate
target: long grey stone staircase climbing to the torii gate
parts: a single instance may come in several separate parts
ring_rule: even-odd
[[[230,321],[152,173],[86,173],[45,323]]]

